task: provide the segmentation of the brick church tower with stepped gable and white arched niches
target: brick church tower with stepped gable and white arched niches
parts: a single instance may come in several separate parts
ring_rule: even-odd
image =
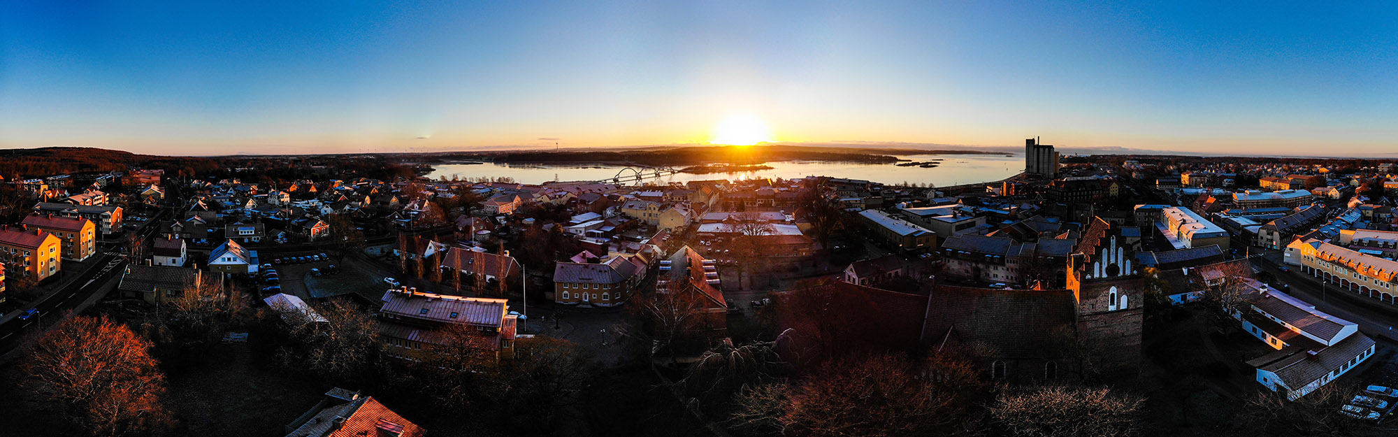
[[[1093,217],[1068,258],[1076,328],[1100,371],[1135,373],[1141,363],[1145,280],[1121,230]]]

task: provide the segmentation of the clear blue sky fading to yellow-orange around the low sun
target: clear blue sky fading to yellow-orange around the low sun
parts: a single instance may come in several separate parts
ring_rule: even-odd
[[[1398,157],[1398,3],[0,3],[0,148]]]

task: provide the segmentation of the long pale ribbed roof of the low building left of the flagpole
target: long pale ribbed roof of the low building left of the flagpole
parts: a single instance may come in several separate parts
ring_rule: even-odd
[[[443,324],[468,324],[499,328],[505,319],[506,300],[417,293],[403,289],[383,293],[380,314],[405,319]]]

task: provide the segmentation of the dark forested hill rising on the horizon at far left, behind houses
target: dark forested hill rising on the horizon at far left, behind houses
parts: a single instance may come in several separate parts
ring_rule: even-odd
[[[133,167],[162,168],[169,172],[178,172],[186,168],[208,171],[218,165],[210,158],[143,155],[95,147],[0,150],[0,176],[6,179],[92,171],[124,171]]]

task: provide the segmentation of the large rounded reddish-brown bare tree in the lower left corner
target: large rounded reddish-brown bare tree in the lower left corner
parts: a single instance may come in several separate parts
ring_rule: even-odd
[[[159,433],[165,375],[151,343],[106,317],[69,318],[41,336],[22,361],[36,395],[94,436]]]

